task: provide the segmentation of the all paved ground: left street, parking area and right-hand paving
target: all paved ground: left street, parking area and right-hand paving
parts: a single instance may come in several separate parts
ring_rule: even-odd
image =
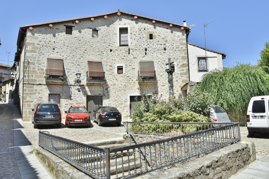
[[[34,154],[29,153],[33,146],[38,146],[38,131],[49,131],[50,134],[83,143],[111,138],[122,139],[122,135],[125,134],[123,125],[118,127],[116,124],[104,124],[99,127],[96,123],[91,123],[89,128],[65,128],[64,121],[61,128],[57,128],[56,125],[43,125],[34,129],[31,122],[23,122],[20,119],[14,105],[6,103],[0,103],[0,120],[2,137],[0,178],[51,178]],[[249,138],[246,127],[240,127],[240,133],[241,140],[255,143],[257,161],[246,166],[230,179],[269,178],[269,133],[260,132],[255,134],[255,137]]]

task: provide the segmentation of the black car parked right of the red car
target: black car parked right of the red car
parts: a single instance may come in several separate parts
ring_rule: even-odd
[[[118,126],[121,125],[121,113],[116,107],[113,106],[101,106],[96,110],[93,110],[93,122],[97,121],[98,126],[104,123],[116,123]]]

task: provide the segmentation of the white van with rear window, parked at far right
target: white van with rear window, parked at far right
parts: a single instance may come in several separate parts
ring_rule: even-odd
[[[247,130],[254,137],[256,131],[269,131],[269,96],[252,97],[247,108]]]

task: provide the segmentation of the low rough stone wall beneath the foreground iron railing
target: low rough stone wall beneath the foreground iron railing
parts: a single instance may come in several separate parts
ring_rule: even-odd
[[[91,178],[78,171],[60,158],[49,153],[41,147],[35,150],[37,158],[43,166],[56,179],[83,179]],[[229,178],[238,170],[256,160],[256,149],[253,142],[238,142],[197,158],[184,164],[176,164],[175,167],[166,170],[157,170],[137,177],[162,178],[162,179],[186,179],[186,178]]]

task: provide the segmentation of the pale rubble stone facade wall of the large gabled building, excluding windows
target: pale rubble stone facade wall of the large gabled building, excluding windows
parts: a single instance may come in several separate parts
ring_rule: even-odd
[[[65,34],[65,26],[73,27],[72,35]],[[128,26],[130,45],[119,47],[118,28]],[[92,37],[92,29],[98,30],[98,37]],[[149,39],[149,34],[153,39]],[[145,50],[147,49],[147,51]],[[164,49],[165,48],[165,49]],[[145,51],[147,54],[145,54]],[[45,83],[47,58],[63,59],[66,73],[64,85]],[[131,16],[109,16],[108,19],[95,18],[92,22],[81,20],[78,24],[64,22],[49,26],[33,27],[27,30],[26,56],[24,64],[24,97],[23,119],[31,120],[31,109],[34,103],[47,101],[48,93],[61,95],[62,117],[63,111],[70,105],[86,105],[86,96],[102,96],[103,105],[111,103],[123,114],[123,119],[130,115],[130,97],[138,95],[138,87],[150,92],[157,90],[168,98],[168,77],[165,63],[171,58],[176,63],[177,72],[174,73],[175,95],[181,93],[180,87],[189,81],[187,47],[185,30],[179,27],[169,27]],[[155,84],[141,85],[137,81],[140,60],[152,60],[156,70]],[[23,61],[23,55],[21,55]],[[87,61],[101,61],[106,83],[103,86],[86,85]],[[124,64],[125,74],[116,74],[116,64]],[[76,73],[81,73],[81,84],[75,85]],[[23,70],[21,71],[21,73]],[[21,74],[22,75],[22,74]],[[21,93],[21,92],[20,92]],[[22,94],[22,93],[21,93]],[[68,103],[68,107],[62,104]]]

